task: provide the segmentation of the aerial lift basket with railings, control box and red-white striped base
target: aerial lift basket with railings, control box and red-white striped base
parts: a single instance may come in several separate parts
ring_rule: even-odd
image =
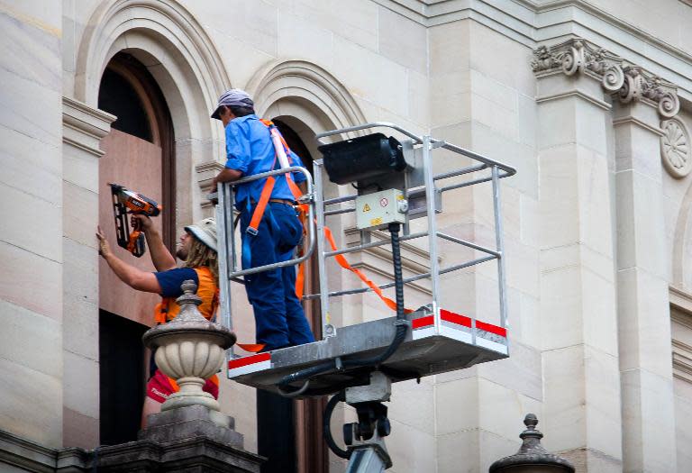
[[[403,136],[401,141],[372,133],[387,129]],[[366,133],[369,132],[368,133]],[[335,141],[338,137],[345,140]],[[465,150],[429,135],[418,136],[393,123],[366,123],[323,132],[316,137],[323,159],[314,161],[313,177],[302,167],[284,167],[241,180],[220,184],[215,201],[219,238],[219,284],[221,322],[232,329],[232,282],[260,271],[296,266],[311,257],[317,261],[319,292],[304,296],[317,299],[321,309],[323,339],[280,350],[239,356],[228,350],[227,375],[250,387],[278,392],[282,396],[333,396],[325,412],[325,439],[337,455],[350,459],[347,471],[375,472],[391,466],[384,445],[389,433],[387,407],[391,383],[469,368],[475,364],[509,356],[507,340],[505,261],[500,212],[500,182],[515,174],[514,168]],[[325,141],[329,139],[330,142]],[[460,166],[433,172],[432,154],[447,150]],[[300,257],[259,268],[238,267],[238,245],[234,238],[233,187],[253,180],[286,173],[305,176],[306,192],[300,204],[307,205],[304,252]],[[324,177],[357,193],[325,198]],[[492,186],[495,245],[487,248],[438,229],[442,196],[454,189],[482,183]],[[351,205],[353,204],[353,205]],[[325,218],[356,214],[360,242],[334,249],[325,237]],[[425,219],[425,230],[411,232],[414,219]],[[403,235],[399,235],[401,226]],[[420,225],[418,225],[420,226]],[[373,241],[373,230],[386,229],[391,240]],[[328,231],[327,231],[328,232]],[[427,240],[429,270],[403,277],[400,242]],[[445,261],[441,267],[438,241],[474,250],[475,258]],[[327,261],[340,255],[362,252],[391,242],[394,281],[387,284],[331,290]],[[481,255],[481,256],[478,256]],[[478,257],[476,257],[478,256]],[[496,261],[499,317],[479,320],[458,314],[441,305],[441,276],[474,265]],[[404,309],[404,287],[421,279],[430,281],[430,302],[413,311]],[[336,297],[381,291],[395,287],[396,316],[336,327],[330,317]],[[487,320],[499,320],[488,323]],[[329,432],[329,419],[339,401],[356,408],[359,422],[344,425],[348,450],[341,450]]]

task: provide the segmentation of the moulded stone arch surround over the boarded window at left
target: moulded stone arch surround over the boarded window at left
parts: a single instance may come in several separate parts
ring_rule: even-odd
[[[214,42],[175,0],[110,0],[96,8],[77,51],[74,96],[96,108],[106,64],[118,52],[140,60],[171,111],[176,141],[178,229],[200,218],[203,196],[196,168],[223,157],[223,132],[209,119],[231,85]]]

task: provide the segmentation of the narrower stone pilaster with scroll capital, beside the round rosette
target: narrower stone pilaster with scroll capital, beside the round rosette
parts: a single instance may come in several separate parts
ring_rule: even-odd
[[[663,160],[684,172],[674,89],[626,67],[614,107],[617,294],[624,471],[676,468]],[[664,132],[660,129],[668,125]],[[669,142],[669,148],[665,143]],[[669,151],[666,154],[666,151]]]

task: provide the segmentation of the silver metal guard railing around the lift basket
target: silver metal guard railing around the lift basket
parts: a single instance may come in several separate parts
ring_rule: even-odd
[[[410,138],[414,146],[420,146],[422,149],[423,158],[423,183],[424,189],[415,188],[407,190],[407,197],[425,196],[427,231],[407,233],[400,238],[400,241],[409,241],[424,237],[428,238],[428,254],[430,259],[430,269],[425,272],[413,274],[404,278],[404,284],[411,283],[420,279],[429,278],[431,280],[432,293],[432,314],[435,316],[435,323],[440,323],[440,311],[437,310],[440,301],[440,276],[451,273],[462,268],[478,265],[493,259],[497,261],[497,279],[499,291],[499,309],[500,309],[500,325],[506,328],[506,282],[505,282],[505,262],[504,262],[504,241],[502,231],[502,214],[500,208],[500,186],[499,179],[503,177],[513,176],[516,170],[494,159],[488,159],[478,153],[466,150],[459,146],[453,145],[446,141],[435,140],[431,136],[418,136],[412,132],[397,126],[393,123],[366,123],[359,126],[333,130],[331,132],[323,132],[316,135],[316,139],[320,144],[326,144],[322,141],[323,138],[341,135],[343,133],[360,132],[371,128],[389,128],[400,132]],[[472,166],[465,166],[447,170],[443,173],[433,174],[432,172],[432,150],[449,150],[452,153],[462,157],[477,161]],[[486,176],[475,177],[463,182],[454,182],[446,186],[437,186],[438,183],[452,177],[460,177],[468,174],[488,171]],[[307,183],[307,192],[304,196],[305,204],[309,205],[307,223],[307,243],[305,253],[299,258],[281,261],[271,265],[258,268],[237,268],[236,244],[233,238],[233,187],[242,184],[247,184],[252,181],[264,179],[269,176],[286,174],[288,172],[301,172],[305,175]],[[493,212],[495,223],[495,248],[487,248],[483,245],[471,241],[465,241],[450,234],[439,232],[436,222],[435,202],[440,199],[440,196],[453,189],[459,189],[465,186],[474,186],[477,184],[490,182],[492,185]],[[322,159],[314,161],[314,184],[313,177],[305,168],[292,167],[284,168],[275,171],[270,171],[258,174],[251,177],[245,177],[241,180],[232,183],[220,184],[218,187],[218,205],[216,207],[217,227],[219,232],[219,274],[220,289],[221,289],[221,306],[222,306],[222,323],[232,329],[232,305],[231,305],[231,283],[232,281],[242,282],[241,277],[267,271],[275,268],[287,266],[295,266],[309,259],[314,253],[317,258],[317,277],[319,280],[319,292],[304,296],[305,300],[319,299],[322,316],[323,337],[332,337],[336,334],[336,328],[332,325],[329,317],[329,299],[335,296],[347,296],[366,293],[372,291],[370,287],[359,287],[353,289],[341,289],[330,291],[326,272],[326,259],[333,258],[337,255],[352,253],[356,251],[369,250],[378,246],[387,245],[389,241],[368,241],[361,242],[359,245],[351,246],[342,250],[327,250],[327,245],[324,237],[325,217],[330,215],[348,214],[355,212],[355,207],[333,209],[334,205],[341,205],[354,201],[357,195],[341,196],[337,198],[324,199],[323,196],[323,162]],[[436,196],[437,195],[437,196]],[[432,237],[431,237],[432,236]],[[438,250],[438,238],[444,241],[459,244],[472,250],[478,250],[485,253],[485,256],[468,261],[460,261],[456,264],[451,264],[441,268]],[[380,289],[394,287],[395,283],[387,283],[379,285]],[[474,319],[475,324],[475,319]],[[475,325],[474,325],[475,326]],[[231,351],[231,350],[229,350]],[[231,351],[232,356],[232,351]]]

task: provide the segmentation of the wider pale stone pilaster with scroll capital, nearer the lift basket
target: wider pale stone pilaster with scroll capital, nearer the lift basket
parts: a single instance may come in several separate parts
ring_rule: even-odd
[[[581,39],[534,51],[544,432],[578,471],[621,472],[609,94],[615,56]],[[597,413],[597,414],[596,414]]]

